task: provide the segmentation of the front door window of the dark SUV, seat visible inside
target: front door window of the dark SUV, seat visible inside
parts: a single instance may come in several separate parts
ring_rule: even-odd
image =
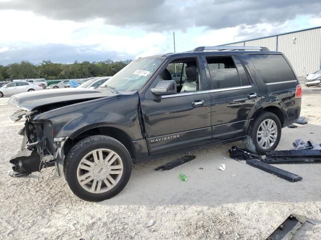
[[[176,59],[159,74],[161,80],[175,80],[177,92],[192,92],[200,89],[197,58]]]

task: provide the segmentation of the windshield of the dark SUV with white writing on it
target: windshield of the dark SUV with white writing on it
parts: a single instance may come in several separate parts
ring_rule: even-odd
[[[116,91],[136,91],[145,84],[163,60],[162,57],[145,57],[133,60],[101,84],[100,89],[109,87]]]

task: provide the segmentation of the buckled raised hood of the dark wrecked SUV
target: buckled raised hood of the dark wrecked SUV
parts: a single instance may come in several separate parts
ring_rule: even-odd
[[[81,87],[46,89],[42,91],[24,92],[13,95],[9,98],[8,104],[27,111],[32,111],[40,106],[50,105],[53,103],[63,103],[69,101],[79,102],[82,100],[92,100],[112,95],[115,95],[115,93]]]

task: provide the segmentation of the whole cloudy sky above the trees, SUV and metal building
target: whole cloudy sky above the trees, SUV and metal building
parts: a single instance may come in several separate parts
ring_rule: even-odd
[[[126,60],[321,25],[320,0],[0,0],[0,64]]]

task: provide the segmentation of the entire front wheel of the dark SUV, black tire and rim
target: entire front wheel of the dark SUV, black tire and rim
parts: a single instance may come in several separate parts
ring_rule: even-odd
[[[76,196],[86,201],[102,201],[117,195],[127,184],[131,157],[120,141],[105,135],[89,136],[68,152],[64,173]]]

